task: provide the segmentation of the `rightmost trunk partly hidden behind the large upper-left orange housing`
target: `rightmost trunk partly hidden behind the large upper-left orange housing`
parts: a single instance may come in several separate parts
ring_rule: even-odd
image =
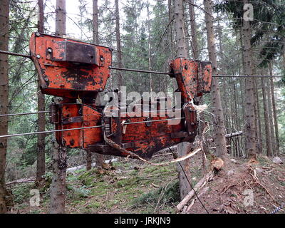
[[[99,45],[99,31],[98,31],[98,0],[93,0],[93,43]],[[92,166],[92,152],[89,150],[86,153],[87,163],[86,170],[90,170]],[[104,163],[104,155],[95,153],[96,167],[101,167]]]

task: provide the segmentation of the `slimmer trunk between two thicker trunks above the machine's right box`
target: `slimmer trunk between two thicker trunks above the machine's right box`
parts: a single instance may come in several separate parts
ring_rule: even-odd
[[[195,21],[194,0],[189,0],[189,14],[190,14],[190,27],[191,27],[191,47],[195,59],[199,59],[199,47],[197,40],[197,26]]]

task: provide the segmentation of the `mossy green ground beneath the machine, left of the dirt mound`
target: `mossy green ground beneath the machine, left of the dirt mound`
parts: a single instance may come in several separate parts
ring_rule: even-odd
[[[166,166],[134,165],[114,162],[113,170],[85,168],[66,176],[66,207],[68,213],[172,213],[172,203],[179,200],[175,164]],[[41,212],[48,212],[52,173],[45,175],[41,193]],[[28,207],[34,184],[19,185],[13,190],[16,207]],[[28,211],[38,212],[37,209]]]

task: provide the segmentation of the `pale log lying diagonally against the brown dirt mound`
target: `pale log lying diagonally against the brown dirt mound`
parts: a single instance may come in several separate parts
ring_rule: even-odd
[[[183,207],[190,201],[190,199],[192,199],[192,197],[195,195],[195,192],[198,192],[199,190],[202,189],[202,187],[204,187],[204,185],[207,184],[207,182],[209,180],[211,180],[214,177],[215,171],[211,170],[207,173],[207,175],[205,175],[201,180],[199,180],[199,182],[197,182],[197,184],[194,187],[194,190],[191,190],[185,197],[184,199],[182,199],[182,201],[177,204],[176,209],[178,212],[180,212]]]

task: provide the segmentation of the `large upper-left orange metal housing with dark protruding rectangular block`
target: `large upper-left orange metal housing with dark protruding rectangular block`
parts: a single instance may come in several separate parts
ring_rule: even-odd
[[[110,48],[37,34],[31,36],[30,51],[42,93],[66,98],[95,98],[104,90],[110,77],[108,67],[112,65]]]

